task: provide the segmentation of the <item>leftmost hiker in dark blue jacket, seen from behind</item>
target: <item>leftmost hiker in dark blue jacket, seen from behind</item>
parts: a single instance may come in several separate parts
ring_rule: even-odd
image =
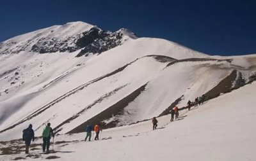
[[[31,140],[35,141],[35,134],[34,134],[34,130],[32,129],[31,124],[29,124],[27,129],[23,130],[22,140],[25,141],[25,144],[26,144],[25,153],[28,154],[29,146],[31,144]]]

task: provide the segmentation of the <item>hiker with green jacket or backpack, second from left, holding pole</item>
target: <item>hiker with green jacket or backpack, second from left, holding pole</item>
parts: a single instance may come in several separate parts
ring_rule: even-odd
[[[46,153],[49,153],[51,136],[54,137],[53,130],[51,128],[51,123],[47,123],[43,131],[43,153],[45,152],[45,147]]]

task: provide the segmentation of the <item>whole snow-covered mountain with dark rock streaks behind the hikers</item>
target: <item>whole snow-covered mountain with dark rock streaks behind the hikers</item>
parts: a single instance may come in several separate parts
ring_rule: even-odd
[[[255,77],[256,55],[210,56],[127,29],[55,25],[0,44],[0,138],[20,138],[29,123],[36,136],[47,122],[58,134],[130,125]]]

